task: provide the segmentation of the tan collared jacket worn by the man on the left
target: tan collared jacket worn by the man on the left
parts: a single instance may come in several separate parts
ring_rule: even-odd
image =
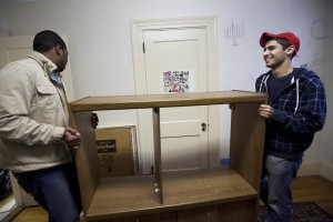
[[[26,172],[71,161],[62,141],[68,108],[49,73],[57,65],[39,52],[0,70],[0,168]]]

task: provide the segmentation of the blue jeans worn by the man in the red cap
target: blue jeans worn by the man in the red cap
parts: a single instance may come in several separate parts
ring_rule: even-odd
[[[260,198],[268,206],[266,222],[291,222],[293,200],[291,183],[296,176],[301,160],[290,161],[265,155]]]

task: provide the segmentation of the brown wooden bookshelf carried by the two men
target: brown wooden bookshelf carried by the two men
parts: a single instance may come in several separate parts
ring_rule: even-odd
[[[256,221],[265,122],[263,93],[228,91],[153,95],[88,97],[71,103],[82,134],[75,161],[87,221]],[[160,109],[230,104],[229,168],[162,172]],[[157,173],[100,178],[92,111],[151,109]]]

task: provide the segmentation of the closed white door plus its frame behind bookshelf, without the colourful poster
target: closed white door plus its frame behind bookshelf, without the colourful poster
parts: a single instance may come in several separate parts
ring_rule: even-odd
[[[138,94],[160,93],[161,72],[164,71],[191,71],[193,91],[219,90],[214,17],[137,20],[131,22],[131,29]],[[219,105],[176,109],[161,109],[163,169],[218,167]],[[206,131],[201,131],[201,123],[209,125]],[[153,172],[154,165],[151,125],[151,110],[138,110],[140,167],[144,174]],[[204,141],[208,144],[202,145]]]

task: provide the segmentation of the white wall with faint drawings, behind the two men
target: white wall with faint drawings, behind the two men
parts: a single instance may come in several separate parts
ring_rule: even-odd
[[[327,94],[332,94],[331,0],[54,0],[0,6],[0,12],[1,7],[7,17],[1,16],[0,20],[7,20],[4,26],[13,36],[36,34],[43,29],[68,36],[77,99],[135,93],[130,21],[210,16],[218,18],[220,90],[254,90],[255,78],[266,71],[259,47],[261,33],[293,31],[301,38],[294,65],[315,70],[324,79]],[[244,32],[235,40],[236,46],[226,38],[225,30],[232,23]],[[221,110],[222,158],[229,153],[230,122],[223,118],[229,112]],[[111,125],[137,121],[134,111],[113,112],[112,117],[101,114],[101,118]],[[325,130],[316,135],[305,161],[323,159],[333,163],[330,131],[329,114]]]

